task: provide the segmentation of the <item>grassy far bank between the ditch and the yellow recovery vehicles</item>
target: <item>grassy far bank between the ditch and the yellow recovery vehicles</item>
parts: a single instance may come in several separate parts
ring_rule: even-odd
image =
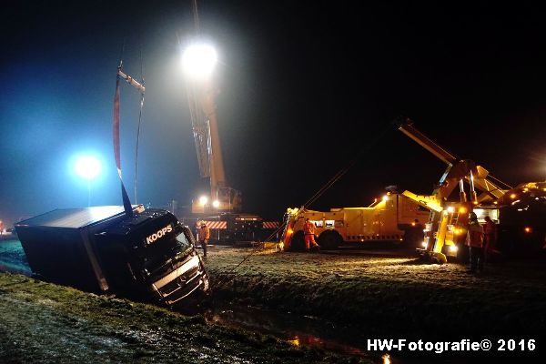
[[[462,264],[397,257],[396,249],[368,253],[224,248],[207,267],[217,296],[346,323],[367,338],[539,339],[546,328],[544,257],[474,275]]]

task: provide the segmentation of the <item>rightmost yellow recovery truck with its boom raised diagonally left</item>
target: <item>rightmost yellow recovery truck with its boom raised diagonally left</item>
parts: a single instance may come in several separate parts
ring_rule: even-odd
[[[430,209],[423,248],[419,249],[422,256],[440,263],[446,262],[448,256],[458,257],[466,238],[466,225],[471,211],[482,221],[486,216],[499,221],[501,230],[510,232],[503,236],[500,234],[501,245],[513,245],[516,240],[533,240],[531,244],[535,246],[546,243],[543,223],[546,212],[545,182],[522,183],[514,188],[508,185],[500,187],[496,181],[493,182],[486,168],[477,166],[470,159],[455,157],[420,133],[410,119],[399,121],[398,128],[448,165],[432,195],[416,195],[410,191],[402,193],[420,206]],[[470,185],[470,197],[465,192],[465,181]],[[459,200],[450,201],[457,187],[460,189]],[[527,213],[531,206],[532,213]]]

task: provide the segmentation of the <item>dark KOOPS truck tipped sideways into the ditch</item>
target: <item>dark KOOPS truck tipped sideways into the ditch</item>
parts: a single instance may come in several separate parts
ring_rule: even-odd
[[[56,209],[15,224],[38,278],[169,307],[206,298],[208,277],[194,238],[161,209],[104,206]]]

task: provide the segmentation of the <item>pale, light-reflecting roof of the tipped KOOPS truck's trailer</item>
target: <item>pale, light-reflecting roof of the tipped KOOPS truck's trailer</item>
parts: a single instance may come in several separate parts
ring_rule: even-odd
[[[16,226],[86,227],[125,212],[123,206],[59,208],[18,222]]]

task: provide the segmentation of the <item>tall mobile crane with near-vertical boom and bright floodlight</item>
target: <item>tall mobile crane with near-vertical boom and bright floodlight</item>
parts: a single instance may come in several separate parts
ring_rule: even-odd
[[[203,59],[204,56],[208,59]],[[196,61],[192,57],[201,59]],[[212,66],[216,53],[209,45],[199,43],[188,46],[184,58],[190,66]],[[214,239],[229,243],[261,240],[266,238],[268,230],[278,227],[278,223],[264,222],[258,215],[242,213],[241,193],[227,183],[217,125],[216,90],[210,72],[192,71],[193,75],[187,77],[187,99],[199,172],[210,181],[210,195],[192,201],[192,214],[216,230],[212,234]]]

